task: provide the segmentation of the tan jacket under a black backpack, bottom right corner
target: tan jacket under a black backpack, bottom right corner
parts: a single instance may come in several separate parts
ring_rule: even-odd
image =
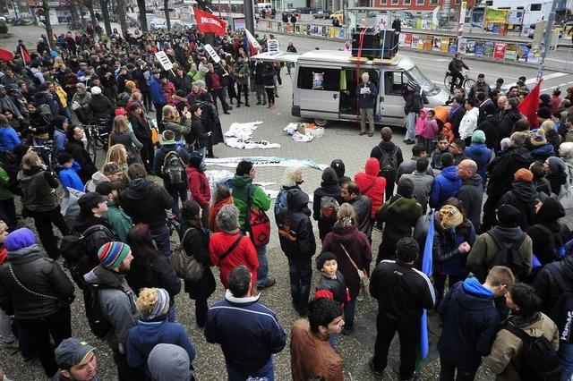
[[[542,335],[552,343],[555,351],[559,348],[559,331],[552,319],[542,312],[535,315],[535,318],[527,321],[518,315],[510,315],[506,324],[516,326],[533,337]],[[496,374],[498,380],[518,381],[521,379],[517,373],[520,363],[520,354],[523,349],[523,342],[515,334],[507,329],[500,329],[495,336],[492,351],[485,358],[486,364]]]

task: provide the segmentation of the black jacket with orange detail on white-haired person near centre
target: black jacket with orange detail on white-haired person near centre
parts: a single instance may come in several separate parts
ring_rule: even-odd
[[[308,212],[308,195],[303,190],[286,190],[286,209],[278,213],[278,239],[280,248],[289,258],[311,258],[316,252]]]

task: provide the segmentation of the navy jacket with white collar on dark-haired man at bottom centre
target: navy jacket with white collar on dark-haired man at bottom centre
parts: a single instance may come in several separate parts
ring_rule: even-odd
[[[205,338],[221,345],[227,367],[243,372],[261,368],[286,345],[277,315],[259,296],[235,298],[228,290],[207,313]]]

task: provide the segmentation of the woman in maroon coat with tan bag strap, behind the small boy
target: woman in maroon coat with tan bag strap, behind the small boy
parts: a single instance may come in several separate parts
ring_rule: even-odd
[[[321,252],[329,251],[337,256],[338,270],[344,275],[350,301],[344,306],[345,326],[343,334],[350,334],[355,325],[355,302],[360,292],[360,277],[357,270],[370,274],[372,247],[366,234],[356,227],[355,209],[348,203],[338,208],[338,221],[332,232],[324,237]]]

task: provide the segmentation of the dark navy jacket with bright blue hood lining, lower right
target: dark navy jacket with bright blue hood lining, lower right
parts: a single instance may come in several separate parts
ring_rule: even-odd
[[[492,350],[500,326],[493,305],[493,292],[477,278],[454,284],[438,308],[443,330],[438,341],[440,355],[466,370],[479,368],[482,356]]]

